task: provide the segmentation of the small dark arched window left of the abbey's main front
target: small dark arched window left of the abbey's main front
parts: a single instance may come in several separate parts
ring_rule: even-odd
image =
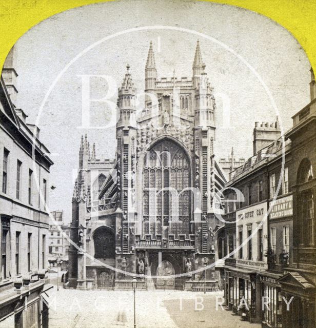
[[[94,257],[96,259],[115,258],[114,233],[106,227],[97,228],[93,234]]]

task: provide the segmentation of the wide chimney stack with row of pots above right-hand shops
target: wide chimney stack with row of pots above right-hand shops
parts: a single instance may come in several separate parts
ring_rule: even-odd
[[[281,129],[279,126],[279,119],[273,123],[269,122],[255,122],[253,129],[253,155],[258,153],[261,149],[272,144],[273,141],[281,137]]]

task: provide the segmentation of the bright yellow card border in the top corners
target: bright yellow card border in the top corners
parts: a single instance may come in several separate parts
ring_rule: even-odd
[[[112,0],[108,0],[112,1]],[[131,0],[132,1],[132,0]],[[209,1],[209,0],[205,0]],[[0,0],[0,67],[16,40],[32,26],[62,11],[104,0]],[[315,0],[213,0],[272,18],[290,31],[316,68]],[[286,56],[286,54],[284,54]]]

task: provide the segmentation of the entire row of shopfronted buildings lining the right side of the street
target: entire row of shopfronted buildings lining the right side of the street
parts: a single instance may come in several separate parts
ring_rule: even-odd
[[[218,239],[222,257],[227,257],[225,302],[263,327],[315,325],[314,90],[312,73],[311,103],[292,117],[285,139],[279,138],[278,121],[256,124],[253,149],[258,152],[227,183],[242,191],[246,206],[236,200],[235,190],[225,191],[227,200],[235,200],[226,206],[227,223]],[[265,133],[269,141],[275,137],[269,146]],[[262,212],[258,207],[267,210],[266,220],[257,218]],[[249,238],[253,224],[259,229]]]

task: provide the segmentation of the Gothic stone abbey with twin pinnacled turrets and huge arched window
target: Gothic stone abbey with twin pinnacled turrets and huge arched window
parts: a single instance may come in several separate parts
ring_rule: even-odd
[[[216,191],[225,177],[214,159],[215,101],[199,42],[192,78],[158,78],[150,44],[145,104],[136,117],[130,68],[118,89],[116,158],[96,158],[82,138],[72,200],[69,286],[198,290],[216,259],[222,223]],[[126,273],[126,274],[125,274]],[[131,274],[128,274],[131,273]],[[218,272],[206,271],[206,288]]]

